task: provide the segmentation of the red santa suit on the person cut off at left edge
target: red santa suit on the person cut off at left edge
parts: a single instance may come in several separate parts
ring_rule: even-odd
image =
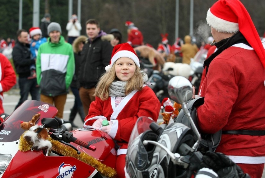
[[[10,90],[16,84],[16,74],[10,61],[1,53],[0,65],[0,114],[2,114],[4,113],[3,92]]]

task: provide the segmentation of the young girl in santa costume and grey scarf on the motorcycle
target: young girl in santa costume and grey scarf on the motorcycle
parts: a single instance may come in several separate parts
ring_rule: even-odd
[[[125,156],[133,126],[140,116],[157,121],[160,102],[145,81],[139,59],[128,43],[114,46],[110,65],[95,89],[95,98],[85,118],[84,127],[95,127],[109,134],[119,146],[116,170],[124,177]],[[107,120],[108,126],[102,126]]]

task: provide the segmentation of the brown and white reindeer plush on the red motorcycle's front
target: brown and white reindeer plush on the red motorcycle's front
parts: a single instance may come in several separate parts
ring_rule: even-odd
[[[24,138],[27,142],[32,142],[32,147],[37,150],[51,148],[52,144],[47,140],[48,129],[35,125],[38,118],[40,118],[40,113],[35,114],[29,122],[21,121],[20,127],[24,130],[27,130],[24,132]]]

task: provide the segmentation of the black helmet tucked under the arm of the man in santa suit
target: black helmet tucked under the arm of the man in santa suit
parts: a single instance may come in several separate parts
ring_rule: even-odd
[[[204,97],[193,99],[187,103],[188,111],[199,132],[200,132],[200,129],[198,127],[196,107],[202,105],[203,103],[204,103]],[[189,119],[184,113],[183,109],[179,112],[179,115],[177,116],[177,118],[174,119],[174,122],[183,123],[184,125],[192,128],[189,122]],[[219,130],[218,132],[214,134],[206,134],[202,132],[200,132],[200,134],[202,136],[202,141],[198,147],[198,151],[202,152],[203,154],[207,152],[208,150],[215,151],[216,147],[219,145],[221,141],[221,130]],[[194,136],[197,137],[195,133],[194,133]]]

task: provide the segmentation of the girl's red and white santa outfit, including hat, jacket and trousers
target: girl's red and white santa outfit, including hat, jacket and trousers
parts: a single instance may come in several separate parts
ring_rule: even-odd
[[[114,62],[120,57],[129,57],[140,67],[139,59],[133,48],[127,43],[114,46],[110,65],[106,70],[110,70]],[[151,88],[144,85],[142,90],[133,90],[125,96],[116,107],[115,97],[109,97],[107,100],[101,100],[95,97],[90,105],[88,115],[85,118],[84,127],[92,126],[97,119],[107,119],[112,121],[109,136],[116,140],[119,146],[117,150],[117,172],[123,171],[125,166],[125,156],[128,148],[128,141],[137,119],[141,116],[151,117],[157,121],[160,112],[160,102]],[[124,172],[124,171],[123,171]],[[118,173],[119,174],[119,173]]]

